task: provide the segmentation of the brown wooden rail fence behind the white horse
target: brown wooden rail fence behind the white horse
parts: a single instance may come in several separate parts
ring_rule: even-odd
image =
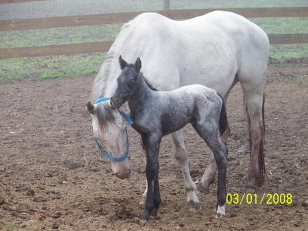
[[[25,1],[25,0],[0,0],[0,3],[18,2],[18,1]],[[35,1],[35,0],[28,0],[28,1]],[[187,19],[207,14],[208,12],[214,10],[226,10],[229,12],[240,14],[246,18],[308,17],[308,7],[159,10],[155,12],[172,19]],[[141,13],[142,12],[88,14],[81,16],[59,16],[59,17],[49,17],[49,18],[27,18],[27,19],[0,21],[0,31],[126,23]],[[268,38],[270,39],[270,44],[308,43],[308,33],[268,34]],[[76,54],[76,53],[105,52],[110,49],[112,43],[113,41],[84,42],[77,44],[6,48],[6,49],[0,49],[0,59],[14,58],[14,57],[34,57],[42,55],[63,55],[63,54]]]

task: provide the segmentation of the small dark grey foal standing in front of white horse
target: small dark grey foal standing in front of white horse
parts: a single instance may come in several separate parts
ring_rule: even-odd
[[[148,193],[140,219],[148,220],[149,215],[157,215],[161,202],[158,183],[159,144],[164,135],[174,133],[191,123],[198,135],[214,153],[218,167],[218,202],[216,213],[225,215],[227,147],[218,137],[227,126],[227,113],[222,97],[203,85],[188,85],[170,92],[157,91],[146,79],[141,69],[141,60],[127,64],[119,57],[122,72],[118,77],[116,93],[111,98],[112,107],[119,108],[128,102],[133,128],[142,138],[146,150],[146,180]],[[195,191],[196,187],[186,189]],[[201,208],[198,200],[188,202],[190,206]]]

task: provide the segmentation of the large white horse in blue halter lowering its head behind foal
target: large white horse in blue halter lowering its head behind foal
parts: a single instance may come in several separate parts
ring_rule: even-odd
[[[260,187],[264,182],[264,87],[268,65],[269,41],[262,29],[246,18],[231,12],[215,11],[187,21],[172,21],[156,13],[144,13],[125,24],[107,53],[92,86],[87,103],[92,113],[94,137],[100,147],[114,157],[127,153],[125,122],[110,100],[99,100],[114,94],[121,69],[118,57],[133,63],[142,59],[142,72],[158,90],[174,90],[194,83],[211,87],[227,98],[240,81],[248,111],[251,140],[251,163],[246,185]],[[97,101],[98,102],[98,101]],[[94,103],[94,104],[93,104]],[[240,105],[240,103],[239,103]],[[227,143],[229,126],[221,139]],[[188,202],[198,204],[196,185],[188,169],[188,152],[183,131],[172,133],[175,159],[185,180]],[[104,152],[104,153],[105,153]],[[112,161],[118,178],[128,178],[128,159]],[[211,155],[197,189],[206,192],[214,181],[216,163]],[[146,199],[146,191],[142,203]],[[194,210],[188,203],[188,208]]]

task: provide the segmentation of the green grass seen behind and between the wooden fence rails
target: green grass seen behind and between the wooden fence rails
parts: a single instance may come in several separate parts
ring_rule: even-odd
[[[28,7],[25,8],[25,5]],[[61,7],[59,7],[59,5]],[[10,8],[8,8],[10,6]],[[48,6],[48,7],[47,7]],[[162,10],[162,0],[99,1],[99,0],[54,0],[30,3],[1,4],[0,20],[42,16],[78,14],[101,14]],[[253,8],[253,7],[308,6],[307,0],[253,1],[253,0],[170,0],[170,9],[197,8]],[[266,33],[308,33],[307,18],[248,18]],[[79,42],[114,40],[123,24],[60,27],[21,31],[0,31],[0,49],[21,46],[43,46]],[[275,62],[308,57],[308,44],[280,44],[270,46],[270,57]],[[55,55],[0,59],[0,83],[28,79],[51,79],[80,77],[97,74],[105,53]]]

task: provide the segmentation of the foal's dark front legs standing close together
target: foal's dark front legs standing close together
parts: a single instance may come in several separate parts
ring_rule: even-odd
[[[157,134],[142,136],[142,143],[146,149],[146,180],[148,192],[144,211],[140,219],[146,221],[149,220],[150,215],[157,215],[157,210],[161,202],[158,182],[158,153],[161,139],[162,136]]]

